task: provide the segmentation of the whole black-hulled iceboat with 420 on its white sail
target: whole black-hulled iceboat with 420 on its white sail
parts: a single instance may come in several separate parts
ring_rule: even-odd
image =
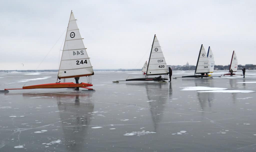
[[[167,75],[168,69],[165,62],[165,58],[161,49],[161,46],[156,38],[156,34],[154,36],[148,66],[146,71],[145,78],[135,78],[135,79],[126,79],[126,80],[118,80],[119,81],[164,81],[168,80],[167,78],[162,78],[161,75]],[[159,77],[148,77],[149,75],[160,75]]]

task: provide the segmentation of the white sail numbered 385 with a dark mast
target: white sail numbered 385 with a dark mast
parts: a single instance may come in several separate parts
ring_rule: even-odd
[[[196,66],[196,73],[209,73],[210,72],[210,68],[209,68],[209,61],[207,58],[207,54],[205,52],[205,48],[203,46],[203,44],[201,45],[201,49],[199,52],[199,56],[198,56],[198,60],[197,60],[197,66]]]

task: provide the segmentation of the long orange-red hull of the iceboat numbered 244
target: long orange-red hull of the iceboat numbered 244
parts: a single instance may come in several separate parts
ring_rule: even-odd
[[[25,86],[22,89],[45,89],[45,88],[86,88],[90,87],[92,84],[88,83],[73,83],[73,82],[66,82],[66,83],[49,83],[49,84],[40,84],[40,85],[33,85],[33,86]],[[16,90],[16,89],[4,89],[4,90]]]

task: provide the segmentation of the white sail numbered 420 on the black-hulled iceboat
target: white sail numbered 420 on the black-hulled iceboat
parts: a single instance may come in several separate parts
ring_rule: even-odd
[[[161,75],[167,73],[168,69],[166,66],[164,55],[155,35],[150,58],[148,60],[147,75]]]

